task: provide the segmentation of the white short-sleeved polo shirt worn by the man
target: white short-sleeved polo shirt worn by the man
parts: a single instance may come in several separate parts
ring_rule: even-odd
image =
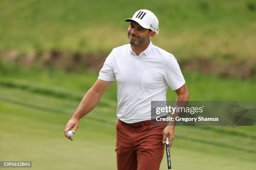
[[[150,42],[139,56],[131,45],[116,47],[98,79],[118,83],[118,119],[126,123],[151,119],[151,101],[165,101],[167,85],[177,90],[185,80],[176,58]]]

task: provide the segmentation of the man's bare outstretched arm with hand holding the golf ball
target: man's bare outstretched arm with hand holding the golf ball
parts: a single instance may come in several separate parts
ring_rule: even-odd
[[[64,130],[64,135],[68,139],[73,140],[72,137],[68,137],[67,131],[73,128],[72,132],[76,133],[76,130],[79,126],[79,120],[87,115],[90,111],[92,111],[92,109],[94,109],[94,107],[100,101],[102,95],[112,83],[113,81],[103,81],[98,79],[95,84],[90,88],[90,90],[88,90],[88,92],[84,95],[77,110],[72,115]]]

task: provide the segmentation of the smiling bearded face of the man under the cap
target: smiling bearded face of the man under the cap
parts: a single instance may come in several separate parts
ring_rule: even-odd
[[[132,21],[130,23],[130,26],[128,27],[128,38],[130,41],[130,44],[133,47],[139,47],[141,45],[144,45],[146,42],[151,40],[151,31],[149,29],[141,27],[138,23],[135,21]]]

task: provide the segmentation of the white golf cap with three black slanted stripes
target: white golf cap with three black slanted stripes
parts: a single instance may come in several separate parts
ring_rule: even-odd
[[[156,32],[158,34],[159,28],[158,28],[158,19],[156,18],[156,15],[152,13],[150,10],[138,10],[134,15],[133,18],[127,18],[125,19],[126,22],[135,21],[141,27],[146,29],[151,29],[152,31]]]

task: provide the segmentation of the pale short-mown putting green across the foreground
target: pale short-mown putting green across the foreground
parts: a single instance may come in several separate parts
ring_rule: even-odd
[[[48,99],[48,102],[51,100]],[[0,102],[0,106],[2,120],[5,120],[1,120],[1,125],[8,127],[5,128],[4,133],[0,133],[1,152],[4,153],[0,156],[1,160],[31,160],[33,168],[38,170],[116,169],[114,124],[85,117],[80,121],[79,130],[74,136],[74,141],[71,142],[64,138],[62,132],[69,115],[45,112],[3,101]],[[97,112],[99,111],[95,110],[91,114],[100,114]],[[113,120],[115,120],[114,117],[113,115]],[[207,139],[204,143],[185,140],[181,137],[182,133],[188,138],[192,136],[202,138],[202,135],[207,134]],[[202,135],[199,136],[201,133]],[[253,170],[256,166],[255,153],[207,143],[207,141],[221,139],[222,143],[227,145],[233,143],[244,148],[248,144],[247,138],[231,135],[223,139],[221,133],[189,127],[177,127],[176,134],[172,147],[172,165],[177,170],[185,168]],[[251,145],[255,147],[255,143]],[[99,157],[101,162],[98,161]],[[166,169],[165,159],[161,164],[161,170],[164,169]]]

